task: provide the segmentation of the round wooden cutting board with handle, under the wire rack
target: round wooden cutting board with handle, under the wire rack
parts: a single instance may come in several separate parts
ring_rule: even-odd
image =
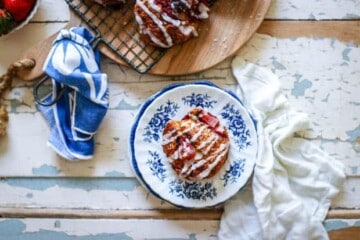
[[[234,55],[256,32],[263,21],[271,0],[218,0],[210,17],[200,25],[199,36],[182,45],[172,47],[147,72],[156,75],[185,75],[206,70]],[[130,10],[129,10],[130,11]],[[66,28],[78,26],[81,19],[70,9]],[[84,24],[84,23],[82,23]],[[23,80],[35,80],[58,33],[37,44],[21,56],[35,59],[36,66],[18,75]],[[97,48],[113,61],[129,66],[106,44]]]

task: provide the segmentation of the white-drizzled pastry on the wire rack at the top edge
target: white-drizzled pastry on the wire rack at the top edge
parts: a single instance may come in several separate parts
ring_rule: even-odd
[[[134,11],[142,40],[160,48],[198,36],[199,22],[209,17],[207,0],[137,0]]]

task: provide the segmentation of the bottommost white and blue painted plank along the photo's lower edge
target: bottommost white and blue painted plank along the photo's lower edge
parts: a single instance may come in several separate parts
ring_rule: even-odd
[[[333,226],[342,225],[336,230]],[[139,231],[141,226],[141,231]],[[325,222],[331,240],[359,239],[355,221]],[[161,231],[160,231],[161,229]],[[217,239],[218,220],[4,218],[0,240]],[[330,229],[330,230],[329,230]]]

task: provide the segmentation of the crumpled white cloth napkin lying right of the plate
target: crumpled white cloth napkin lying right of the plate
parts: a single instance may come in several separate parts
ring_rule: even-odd
[[[225,203],[219,239],[328,239],[322,221],[345,180],[344,166],[310,141],[306,114],[293,110],[269,70],[232,62],[238,94],[258,121],[252,181]]]

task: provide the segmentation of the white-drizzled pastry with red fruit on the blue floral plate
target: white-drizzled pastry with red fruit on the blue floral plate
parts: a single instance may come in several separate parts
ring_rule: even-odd
[[[181,120],[170,120],[162,147],[177,175],[188,181],[214,176],[227,160],[229,135],[211,113],[193,108]]]

